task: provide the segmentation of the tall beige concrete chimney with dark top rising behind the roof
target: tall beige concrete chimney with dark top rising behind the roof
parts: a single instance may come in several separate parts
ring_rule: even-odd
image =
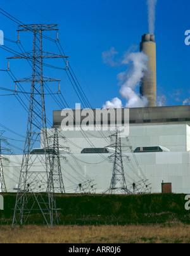
[[[149,56],[148,70],[144,71],[140,94],[148,98],[148,106],[156,106],[156,43],[155,35],[144,34],[140,51]]]

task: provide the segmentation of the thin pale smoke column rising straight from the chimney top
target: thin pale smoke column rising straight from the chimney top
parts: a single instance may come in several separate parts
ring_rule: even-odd
[[[157,0],[147,0],[146,4],[148,5],[148,27],[149,34],[155,34],[155,9],[156,9]]]

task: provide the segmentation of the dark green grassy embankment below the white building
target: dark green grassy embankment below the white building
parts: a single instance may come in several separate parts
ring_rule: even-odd
[[[4,196],[4,210],[0,223],[11,222],[15,194]],[[61,208],[60,224],[130,224],[180,221],[190,224],[190,211],[184,208],[183,194],[151,195],[57,195],[56,205]],[[42,222],[41,214],[28,219],[29,224]]]

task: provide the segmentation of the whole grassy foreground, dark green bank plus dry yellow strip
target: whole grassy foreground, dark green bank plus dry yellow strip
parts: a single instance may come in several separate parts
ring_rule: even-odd
[[[190,243],[190,213],[183,194],[57,195],[60,223],[86,225],[51,229],[35,225],[44,219],[34,214],[27,223],[35,224],[14,230],[4,224],[13,219],[16,195],[3,196],[0,243]]]

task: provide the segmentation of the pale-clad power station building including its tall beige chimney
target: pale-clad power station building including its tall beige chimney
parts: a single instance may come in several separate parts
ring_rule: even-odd
[[[62,110],[53,112],[53,127],[47,129],[47,134],[49,145],[52,145],[54,129],[59,131],[61,172],[66,193],[104,193],[110,187],[113,172],[111,155],[115,151],[110,147],[114,143],[110,135],[115,131],[103,128],[114,127],[116,121],[120,127],[129,125],[129,134],[122,138],[128,189],[132,190],[134,184],[146,179],[151,193],[162,193],[165,183],[171,185],[173,193],[190,193],[190,106],[156,106],[154,35],[143,35],[140,51],[149,56],[148,71],[140,84],[140,93],[148,98],[149,105],[146,108],[130,108],[128,124],[125,123],[124,109],[120,108],[114,109],[115,117],[108,115],[107,127],[99,120],[102,129],[97,131],[92,117],[91,121],[84,122],[91,129],[85,130],[82,121],[87,115],[77,122],[77,113],[81,115],[82,110],[75,110],[74,129],[69,125],[68,129],[63,129],[66,110],[65,113]],[[35,162],[35,154],[43,154],[43,145],[30,153],[34,155],[34,165],[38,170],[43,169],[41,163]],[[6,188],[16,192],[22,155],[4,157]]]

